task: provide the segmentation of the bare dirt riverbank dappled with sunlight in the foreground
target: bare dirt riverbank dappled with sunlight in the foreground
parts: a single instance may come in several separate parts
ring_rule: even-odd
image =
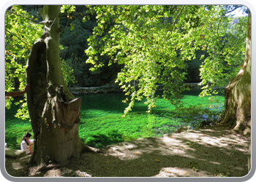
[[[29,166],[29,156],[6,158],[5,167],[15,177],[242,177],[248,173],[249,141],[214,125],[94,149],[42,169]]]

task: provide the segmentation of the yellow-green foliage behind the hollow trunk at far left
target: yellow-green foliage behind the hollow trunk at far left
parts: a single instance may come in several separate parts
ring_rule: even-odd
[[[31,9],[37,7],[37,10]],[[26,9],[26,10],[24,10]],[[34,42],[39,39],[42,34],[42,17],[38,10],[41,6],[25,6],[15,5],[7,9],[5,15],[5,90],[11,92],[17,87],[23,90],[26,79],[26,60],[29,58],[29,51]],[[64,73],[65,82],[74,82],[72,70],[62,61],[61,69]],[[6,107],[10,108],[13,98],[7,100]],[[15,103],[20,104],[18,118],[29,119],[29,112],[26,103],[26,95],[24,100]]]

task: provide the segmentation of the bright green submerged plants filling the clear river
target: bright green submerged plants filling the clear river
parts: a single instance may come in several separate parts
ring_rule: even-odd
[[[135,102],[127,116],[122,117],[128,103],[122,103],[126,96],[122,93],[75,95],[82,97],[80,138],[88,146],[107,145],[136,138],[171,134],[177,127],[201,127],[217,122],[224,106],[224,96],[219,95],[211,102],[209,97],[199,98],[200,90],[182,92],[181,101],[186,108],[180,109],[176,118],[176,108],[169,101],[159,98],[151,114],[145,100]],[[161,92],[158,92],[161,94]],[[28,120],[15,118],[19,106],[5,111],[5,142],[9,148],[20,149],[20,141],[25,132],[32,132]]]

